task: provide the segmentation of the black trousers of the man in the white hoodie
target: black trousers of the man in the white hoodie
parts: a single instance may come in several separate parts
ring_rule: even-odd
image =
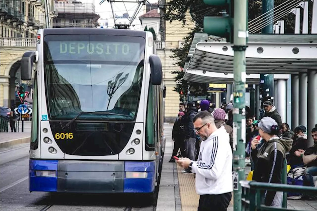
[[[198,211],[227,211],[231,192],[219,195],[200,195]]]

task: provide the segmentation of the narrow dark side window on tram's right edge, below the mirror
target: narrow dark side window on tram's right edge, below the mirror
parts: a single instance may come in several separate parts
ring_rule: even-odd
[[[154,100],[153,100],[153,85],[149,87],[149,94],[147,100],[147,113],[146,113],[146,151],[155,151],[154,148]]]

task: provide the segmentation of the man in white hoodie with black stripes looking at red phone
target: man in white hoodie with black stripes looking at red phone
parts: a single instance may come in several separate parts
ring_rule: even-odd
[[[203,111],[193,119],[202,139],[197,161],[188,158],[177,162],[196,173],[196,192],[200,195],[198,211],[225,211],[231,201],[232,151],[229,134],[223,126],[217,129],[213,116]]]

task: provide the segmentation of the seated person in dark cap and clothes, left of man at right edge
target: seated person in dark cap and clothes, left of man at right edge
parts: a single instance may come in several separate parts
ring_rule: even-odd
[[[307,135],[304,133],[306,132],[306,127],[304,125],[299,125],[294,131],[293,146],[287,155],[288,164],[291,165],[292,169],[304,166],[301,152],[307,149]]]

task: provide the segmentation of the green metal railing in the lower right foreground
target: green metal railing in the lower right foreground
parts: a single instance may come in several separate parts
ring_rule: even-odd
[[[241,181],[242,186],[242,210],[245,211],[264,211],[264,210],[293,210],[287,209],[285,205],[282,208],[268,207],[262,204],[262,191],[283,191],[287,192],[305,193],[305,195],[317,195],[317,188],[300,186],[300,185],[286,185],[267,182],[253,182]]]

